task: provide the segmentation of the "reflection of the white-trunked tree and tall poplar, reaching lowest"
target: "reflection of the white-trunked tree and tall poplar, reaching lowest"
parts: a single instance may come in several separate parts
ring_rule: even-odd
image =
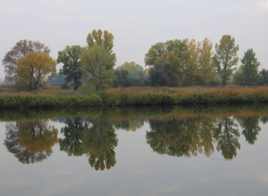
[[[110,169],[116,164],[118,139],[113,124],[107,119],[93,119],[91,127],[84,130],[82,147],[88,152],[88,162],[96,170]]]

